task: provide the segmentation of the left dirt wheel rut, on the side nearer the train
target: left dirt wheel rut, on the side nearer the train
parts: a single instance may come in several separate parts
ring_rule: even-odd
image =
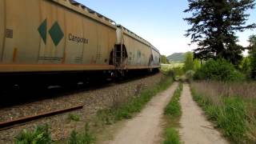
[[[162,134],[162,114],[164,107],[170,101],[177,88],[174,83],[168,90],[156,95],[146,105],[140,114],[128,120],[124,127],[118,130],[114,140],[103,142],[109,144],[154,144],[160,143]]]

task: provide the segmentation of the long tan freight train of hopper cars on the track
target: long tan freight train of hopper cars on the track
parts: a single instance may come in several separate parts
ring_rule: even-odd
[[[0,0],[1,88],[159,67],[150,42],[74,0]]]

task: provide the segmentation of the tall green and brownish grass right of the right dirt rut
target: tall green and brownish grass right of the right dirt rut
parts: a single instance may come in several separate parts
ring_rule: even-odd
[[[222,83],[219,85],[222,86]],[[205,90],[205,87],[209,90]],[[191,89],[194,100],[206,111],[208,118],[216,122],[218,128],[223,130],[225,136],[231,138],[235,143],[256,142],[254,131],[256,109],[254,108],[251,114],[249,109],[250,103],[255,105],[255,102],[249,102],[246,98],[242,98],[246,95],[239,97],[219,95],[225,94],[226,92],[223,90],[226,89],[216,93],[218,87],[214,88],[211,84],[206,86],[206,83],[192,83]],[[214,91],[213,94],[210,94],[211,89]]]

